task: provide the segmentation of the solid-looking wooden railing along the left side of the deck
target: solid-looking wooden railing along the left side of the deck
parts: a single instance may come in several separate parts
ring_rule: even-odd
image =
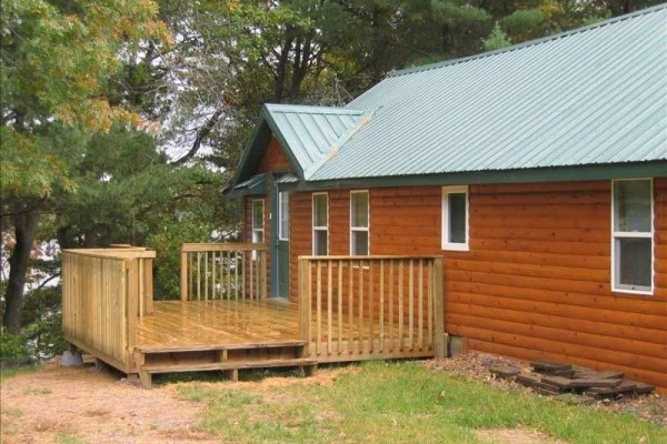
[[[116,367],[135,371],[139,317],[152,311],[155,251],[142,248],[62,252],[66,339]]]

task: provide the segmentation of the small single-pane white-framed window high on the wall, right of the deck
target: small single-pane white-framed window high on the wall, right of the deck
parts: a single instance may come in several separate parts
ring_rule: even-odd
[[[468,186],[442,188],[442,250],[468,251]]]

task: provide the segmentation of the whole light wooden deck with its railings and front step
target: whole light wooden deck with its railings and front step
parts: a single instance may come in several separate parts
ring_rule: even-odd
[[[63,252],[63,330],[150,387],[156,373],[438,356],[441,263],[432,256],[303,256],[298,303],[266,299],[265,244],[185,245],[181,299],[155,301],[145,249]],[[183,284],[183,282],[186,282]]]

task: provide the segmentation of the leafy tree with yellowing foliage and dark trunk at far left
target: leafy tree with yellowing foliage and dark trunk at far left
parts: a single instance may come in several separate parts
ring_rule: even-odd
[[[2,322],[20,330],[26,274],[40,215],[57,191],[73,192],[68,159],[83,155],[91,132],[137,113],[104,92],[122,54],[146,41],[168,42],[152,1],[9,0],[0,12],[2,228],[12,228]],[[67,143],[64,143],[67,141]]]

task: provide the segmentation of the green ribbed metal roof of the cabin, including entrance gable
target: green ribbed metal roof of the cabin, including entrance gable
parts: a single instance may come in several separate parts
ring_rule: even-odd
[[[545,169],[569,169],[573,180],[576,171],[618,174],[636,163],[667,175],[667,4],[395,72],[348,107],[326,109],[354,115],[338,140],[309,139],[317,109],[269,110],[287,135],[282,147],[303,165],[297,176],[312,186],[398,176],[482,182]]]

